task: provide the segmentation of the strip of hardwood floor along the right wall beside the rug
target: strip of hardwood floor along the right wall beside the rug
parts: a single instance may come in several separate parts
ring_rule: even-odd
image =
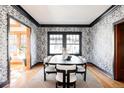
[[[111,79],[107,74],[94,67],[93,65],[88,65],[88,70],[105,88],[124,88],[124,82],[119,82]]]

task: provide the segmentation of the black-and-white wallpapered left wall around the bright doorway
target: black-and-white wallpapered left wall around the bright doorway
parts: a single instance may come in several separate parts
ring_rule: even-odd
[[[12,6],[0,6],[0,84],[7,80],[7,14],[14,16],[31,27],[31,60],[34,65],[36,61],[36,32],[38,28],[30,20],[16,11]]]

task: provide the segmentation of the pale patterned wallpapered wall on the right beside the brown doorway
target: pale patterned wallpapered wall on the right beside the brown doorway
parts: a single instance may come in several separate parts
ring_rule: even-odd
[[[124,18],[124,6],[106,15],[91,30],[92,62],[113,76],[114,29],[113,23]]]

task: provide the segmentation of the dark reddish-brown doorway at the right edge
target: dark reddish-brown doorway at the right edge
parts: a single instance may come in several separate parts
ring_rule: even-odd
[[[124,81],[124,21],[114,25],[115,62],[114,79]]]

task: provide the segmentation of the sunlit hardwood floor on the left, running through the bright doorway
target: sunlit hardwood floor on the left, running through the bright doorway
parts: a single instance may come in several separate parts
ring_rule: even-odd
[[[37,64],[36,66],[34,66],[32,69],[28,70],[26,68],[24,68],[24,66],[22,65],[11,65],[11,69],[17,70],[17,72],[15,73],[15,75],[19,75],[20,77],[15,77],[10,79],[10,84],[5,86],[5,87],[22,87],[22,85],[26,85],[27,82],[30,82],[30,80],[33,78],[33,76],[35,76],[35,74],[42,68],[42,64]],[[22,69],[20,71],[20,69]],[[12,72],[13,72],[12,71]],[[11,73],[11,72],[10,72]],[[19,73],[19,74],[18,74]],[[12,76],[13,77],[13,76]],[[14,80],[16,78],[16,80]],[[24,86],[25,87],[25,86]]]

